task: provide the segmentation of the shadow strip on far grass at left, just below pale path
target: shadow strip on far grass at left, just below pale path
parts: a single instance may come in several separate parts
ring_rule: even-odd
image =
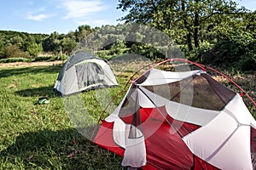
[[[59,73],[62,65],[50,65],[50,66],[32,66],[22,68],[10,68],[0,71],[0,77],[10,77],[13,75],[20,75],[25,73]]]

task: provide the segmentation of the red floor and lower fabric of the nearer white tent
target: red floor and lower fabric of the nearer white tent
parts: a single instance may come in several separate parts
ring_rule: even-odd
[[[142,108],[140,109],[142,118],[142,129],[145,137],[147,165],[143,169],[218,169],[202,161],[193,155],[181,137],[199,128],[198,126],[177,122],[168,117],[165,108]],[[168,122],[162,115],[166,115]],[[126,117],[125,122],[131,117]],[[174,130],[178,126],[178,130]],[[110,150],[119,156],[124,156],[125,150],[120,148],[113,141],[113,122],[103,121],[96,134],[95,143]]]

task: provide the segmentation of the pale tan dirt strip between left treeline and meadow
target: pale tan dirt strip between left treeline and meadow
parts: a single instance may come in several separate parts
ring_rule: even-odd
[[[9,68],[9,67],[30,67],[30,66],[48,66],[48,65],[60,65],[65,61],[56,60],[56,61],[38,61],[38,62],[15,62],[15,63],[0,63],[0,68]]]

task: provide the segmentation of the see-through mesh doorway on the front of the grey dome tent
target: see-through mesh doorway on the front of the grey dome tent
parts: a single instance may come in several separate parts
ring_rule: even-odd
[[[102,83],[104,72],[100,65],[96,63],[83,63],[76,65],[76,74],[78,77],[79,88],[88,87],[93,84]]]

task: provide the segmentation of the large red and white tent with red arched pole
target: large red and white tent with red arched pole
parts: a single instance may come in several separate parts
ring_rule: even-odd
[[[211,67],[164,62],[177,60],[199,69],[152,67],[137,77],[94,142],[123,156],[124,167],[255,169],[256,122],[241,94],[253,99],[235,82],[241,94],[210,77],[207,70],[224,76]]]

